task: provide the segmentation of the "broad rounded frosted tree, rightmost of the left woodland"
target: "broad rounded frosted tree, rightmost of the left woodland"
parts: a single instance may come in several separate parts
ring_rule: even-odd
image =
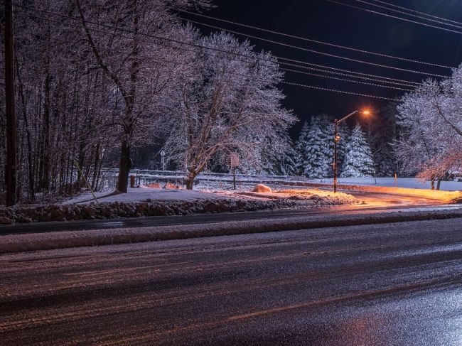
[[[271,54],[255,53],[249,42],[227,33],[200,38],[198,45],[215,52],[200,48],[191,55],[171,88],[176,99],[165,120],[166,148],[188,171],[189,189],[218,154],[237,152],[261,171],[264,146],[284,152],[284,145],[274,144],[296,121],[281,105],[284,94],[276,86],[283,75]]]

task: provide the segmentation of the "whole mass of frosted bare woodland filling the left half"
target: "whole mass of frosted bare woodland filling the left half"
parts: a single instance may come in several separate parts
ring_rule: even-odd
[[[276,158],[291,150],[287,130],[296,117],[281,104],[276,59],[227,33],[203,36],[176,15],[207,9],[210,1],[15,4],[21,200],[76,193],[85,182],[97,189],[113,157],[117,190],[127,192],[134,148],[151,144],[164,146],[170,164],[188,172],[188,188],[203,169],[229,166],[231,153],[258,171],[269,165],[269,151]]]

